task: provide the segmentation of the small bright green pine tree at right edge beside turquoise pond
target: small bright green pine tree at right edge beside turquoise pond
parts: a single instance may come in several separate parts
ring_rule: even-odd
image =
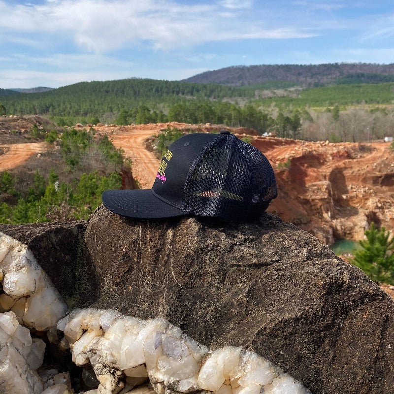
[[[352,263],[374,282],[394,284],[394,237],[389,240],[389,230],[376,229],[373,222],[365,235],[367,239],[360,241],[362,249],[355,252]]]

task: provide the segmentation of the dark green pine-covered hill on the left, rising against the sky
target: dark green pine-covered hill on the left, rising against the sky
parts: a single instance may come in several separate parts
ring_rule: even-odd
[[[122,79],[80,82],[43,93],[3,99],[9,113],[50,114],[52,116],[101,116],[140,104],[168,105],[182,98],[223,99],[253,97],[253,91],[213,84]]]

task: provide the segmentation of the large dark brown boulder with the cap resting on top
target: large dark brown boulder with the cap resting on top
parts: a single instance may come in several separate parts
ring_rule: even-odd
[[[276,216],[136,221],[100,207],[88,223],[0,231],[29,247],[70,310],[167,319],[203,347],[256,352],[314,394],[393,393],[393,300]]]

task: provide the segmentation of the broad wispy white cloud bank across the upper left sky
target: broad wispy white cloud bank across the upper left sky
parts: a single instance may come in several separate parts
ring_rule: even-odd
[[[253,1],[181,4],[174,0],[57,0],[41,5],[9,4],[0,0],[0,30],[6,41],[39,34],[59,42],[74,42],[95,53],[124,46],[149,45],[157,50],[209,41],[242,38],[300,38],[314,35],[296,26],[269,26],[269,21],[244,20],[239,10]],[[231,23],[228,23],[229,20]]]

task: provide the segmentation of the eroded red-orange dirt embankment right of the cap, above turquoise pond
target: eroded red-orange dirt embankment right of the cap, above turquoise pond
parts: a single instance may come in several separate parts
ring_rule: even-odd
[[[279,196],[269,207],[316,235],[360,240],[373,221],[394,230],[394,153],[390,144],[256,138],[270,160]]]

